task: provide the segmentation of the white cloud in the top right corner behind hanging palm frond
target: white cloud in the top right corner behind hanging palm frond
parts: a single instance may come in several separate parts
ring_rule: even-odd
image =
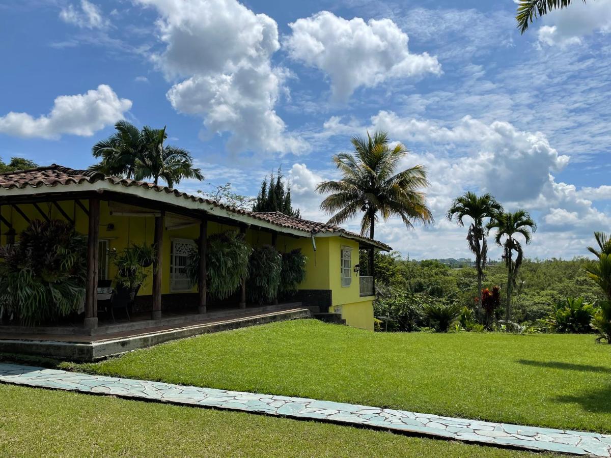
[[[547,46],[566,47],[582,43],[594,33],[611,31],[611,0],[574,1],[567,9],[553,10],[543,17],[538,40]]]

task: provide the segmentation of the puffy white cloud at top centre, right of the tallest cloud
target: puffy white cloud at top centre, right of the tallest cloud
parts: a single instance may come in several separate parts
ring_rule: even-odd
[[[437,57],[414,54],[408,35],[390,19],[346,20],[328,11],[288,24],[284,46],[289,56],[319,68],[331,79],[336,100],[357,87],[373,87],[393,78],[441,74]]]

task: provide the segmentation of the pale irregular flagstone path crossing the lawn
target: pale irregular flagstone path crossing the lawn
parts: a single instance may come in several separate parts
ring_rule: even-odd
[[[147,399],[172,404],[243,410],[298,419],[362,425],[372,429],[511,446],[532,451],[611,457],[611,435],[466,420],[343,402],[186,387],[147,380],[92,376],[0,363],[0,382]]]

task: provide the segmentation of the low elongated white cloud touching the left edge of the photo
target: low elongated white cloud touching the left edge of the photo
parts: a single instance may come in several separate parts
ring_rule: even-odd
[[[62,134],[89,137],[115,123],[130,108],[131,100],[119,98],[109,85],[100,84],[84,94],[58,96],[48,115],[35,118],[9,112],[0,117],[0,133],[45,139],[59,139]]]

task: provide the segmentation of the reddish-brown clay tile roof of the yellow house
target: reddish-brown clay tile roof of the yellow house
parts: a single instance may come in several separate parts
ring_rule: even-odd
[[[145,181],[128,180],[127,178],[119,178],[117,176],[106,176],[101,172],[95,172],[93,170],[75,170],[69,169],[68,167],[63,167],[62,165],[52,164],[48,167],[37,167],[36,169],[0,173],[0,188],[8,190],[15,188],[24,189],[26,187],[54,187],[65,186],[69,184],[95,183],[97,181],[108,181],[108,183],[115,185],[122,185],[126,187],[137,186],[143,187],[145,189],[152,189],[153,191],[157,192],[165,192],[166,194],[174,194],[178,198],[185,198],[188,200],[192,200],[193,202],[213,205],[218,208],[224,209],[225,211],[228,211],[230,213],[252,217],[254,219],[265,221],[279,227],[304,231],[310,234],[345,234],[350,238],[354,238],[368,243],[373,242],[373,244],[378,245],[379,247],[382,247],[384,249],[391,249],[389,245],[383,244],[382,242],[378,241],[372,241],[370,238],[346,231],[345,229],[333,224],[321,223],[294,216],[288,216],[278,211],[253,212],[243,208],[235,208],[216,202],[214,200],[197,197],[191,194],[186,194],[185,192],[180,192],[177,189],[172,189],[167,186],[158,186],[156,184],[146,183]]]

